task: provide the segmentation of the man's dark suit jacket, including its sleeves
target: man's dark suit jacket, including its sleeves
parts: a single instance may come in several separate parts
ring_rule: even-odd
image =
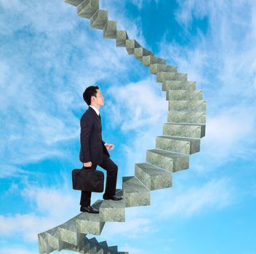
[[[102,126],[100,117],[92,107],[84,112],[80,120],[80,154],[81,163],[92,162],[92,165],[100,165],[103,160],[103,152],[110,157],[102,139]]]

